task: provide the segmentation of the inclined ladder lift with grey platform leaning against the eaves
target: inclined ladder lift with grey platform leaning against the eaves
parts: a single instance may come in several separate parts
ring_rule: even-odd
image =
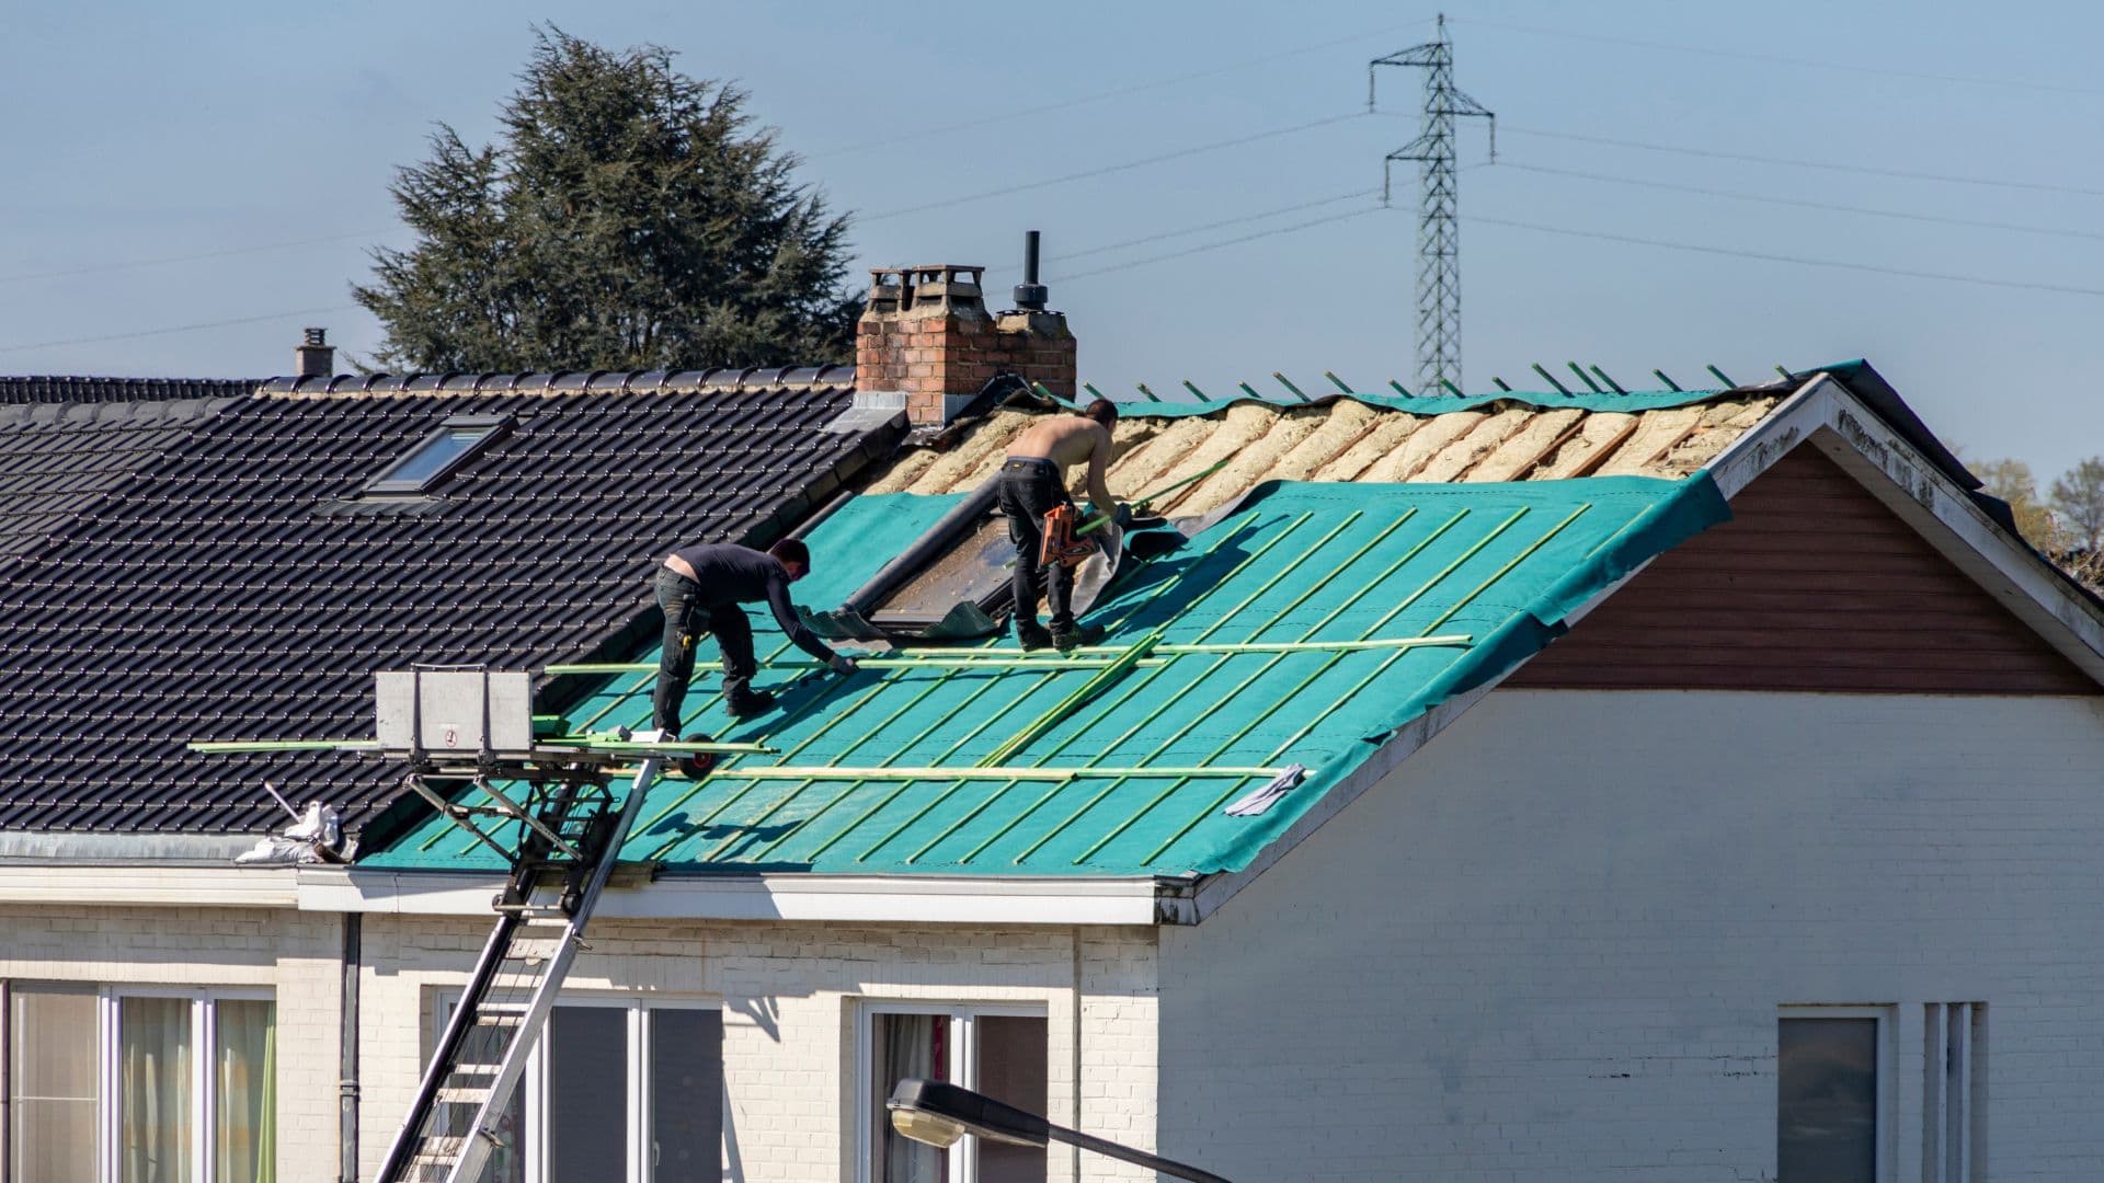
[[[616,810],[606,764],[589,760],[532,764],[507,760],[490,747],[490,703],[513,690],[501,684],[509,678],[507,674],[471,674],[480,682],[480,728],[473,728],[473,705],[452,709],[454,716],[469,716],[467,726],[436,724],[429,716],[436,703],[448,699],[448,693],[454,699],[463,693],[469,699],[476,697],[471,686],[433,693],[433,682],[444,682],[450,674],[429,669],[396,674],[396,678],[408,678],[408,686],[393,695],[396,714],[402,714],[400,707],[406,707],[408,714],[408,726],[398,726],[398,733],[406,730],[408,739],[412,768],[408,785],[480,844],[505,855],[511,863],[511,878],[503,895],[497,897],[497,926],[490,930],[490,939],[476,960],[473,977],[452,1008],[431,1063],[423,1071],[417,1101],[387,1149],[379,1183],[473,1183],[490,1151],[509,1145],[511,1135],[503,1128],[503,1116],[511,1092],[555,1006],[570,962],[583,947],[585,924],[612,876],[621,846],[642,813],[663,760],[648,756],[642,762]],[[387,678],[387,674],[381,676],[383,745],[387,745],[389,730]],[[524,684],[515,693],[524,701]],[[518,716],[515,709],[499,709],[497,714]],[[522,718],[530,728],[530,716]],[[454,730],[446,730],[446,726],[454,726]],[[471,751],[448,756],[423,745],[433,728],[448,741],[459,741],[459,733],[473,728],[480,730],[480,743]],[[497,730],[505,730],[503,722],[497,722]],[[530,743],[528,737],[526,745],[530,747]],[[476,760],[473,783],[482,791],[480,796],[465,794],[461,800],[486,804],[457,804],[423,783],[423,773],[442,770],[448,758]],[[490,783],[488,773],[492,770],[532,777],[524,804]],[[454,775],[454,779],[467,777]],[[482,825],[488,819],[497,819],[499,827],[518,823],[515,850]]]

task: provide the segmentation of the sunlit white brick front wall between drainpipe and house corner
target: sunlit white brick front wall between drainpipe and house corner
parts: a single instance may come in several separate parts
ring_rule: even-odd
[[[429,1052],[431,1000],[438,989],[465,983],[484,935],[484,922],[366,920],[360,1154],[368,1177],[414,1095]],[[606,922],[591,928],[589,941],[566,983],[572,994],[722,1002],[724,1143],[732,1179],[854,1179],[854,1017],[863,1000],[1039,1006],[1048,1031],[1048,1116],[1130,1145],[1153,1145],[1151,930]],[[1050,1156],[1048,1177],[1147,1179],[1100,1156],[1084,1156],[1077,1172],[1065,1149]]]

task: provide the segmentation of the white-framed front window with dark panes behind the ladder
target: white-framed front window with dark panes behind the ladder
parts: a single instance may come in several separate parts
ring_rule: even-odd
[[[564,998],[501,1124],[511,1137],[484,1183],[722,1179],[724,1019],[713,1004]]]

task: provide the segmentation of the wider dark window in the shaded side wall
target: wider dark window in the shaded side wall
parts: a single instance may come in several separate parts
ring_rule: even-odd
[[[1887,1010],[1791,1006],[1776,1031],[1776,1183],[1883,1179]]]

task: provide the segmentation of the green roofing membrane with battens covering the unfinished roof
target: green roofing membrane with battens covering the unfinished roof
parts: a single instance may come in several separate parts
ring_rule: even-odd
[[[846,503],[808,539],[814,570],[795,587],[800,602],[837,604],[955,501]],[[943,665],[806,678],[812,665],[778,646],[757,684],[772,682],[781,709],[745,724],[724,716],[715,671],[696,674],[688,730],[764,739],[778,754],[661,781],[623,855],[673,874],[1239,869],[1397,726],[1540,650],[1572,608],[1727,516],[1706,474],[1262,484],[1185,547],[1121,577],[1090,613],[1109,625],[1094,653],[1023,657],[1002,640],[911,650]],[[1393,644],[1410,638],[1435,642]],[[957,661],[974,655],[1010,661]],[[646,726],[652,680],[614,678],[570,711],[572,728]],[[997,770],[972,768],[987,764]],[[1225,813],[1286,764],[1309,768],[1298,787],[1265,813]],[[814,773],[739,775],[768,766]],[[499,867],[438,817],[360,863]]]

